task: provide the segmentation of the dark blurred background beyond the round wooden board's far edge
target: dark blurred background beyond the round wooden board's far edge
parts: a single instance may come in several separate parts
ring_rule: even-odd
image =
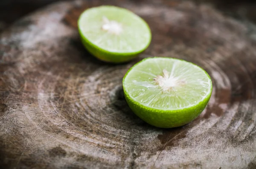
[[[15,20],[60,0],[0,0],[0,31]],[[64,1],[64,0],[62,0]],[[68,1],[68,0],[65,0]],[[72,1],[72,0],[69,0]],[[102,0],[104,1],[104,0]],[[225,15],[256,23],[255,0],[192,0],[198,4],[210,4]]]

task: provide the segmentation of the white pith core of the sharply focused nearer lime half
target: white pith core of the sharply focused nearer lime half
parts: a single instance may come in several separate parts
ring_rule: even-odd
[[[175,91],[176,86],[182,86],[186,84],[185,79],[179,79],[178,77],[172,76],[172,74],[167,71],[163,70],[163,76],[157,75],[154,78],[154,82],[156,82],[157,85],[159,85],[163,91]]]

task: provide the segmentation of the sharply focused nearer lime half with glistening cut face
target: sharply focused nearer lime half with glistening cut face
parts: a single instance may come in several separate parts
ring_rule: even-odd
[[[143,59],[123,78],[125,99],[133,112],[156,127],[179,127],[194,120],[212,93],[210,76],[180,59]]]

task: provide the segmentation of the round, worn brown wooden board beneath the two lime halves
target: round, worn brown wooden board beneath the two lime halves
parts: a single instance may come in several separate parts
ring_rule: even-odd
[[[0,35],[0,168],[256,168],[255,26],[187,1],[111,0],[153,34],[137,59],[111,65],[87,53],[76,29],[81,11],[100,4],[56,3]],[[160,129],[131,112],[122,77],[148,56],[207,70],[212,97],[195,121]]]

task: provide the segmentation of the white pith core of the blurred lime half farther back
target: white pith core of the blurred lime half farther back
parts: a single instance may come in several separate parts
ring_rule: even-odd
[[[119,35],[123,31],[122,24],[116,22],[115,20],[108,20],[107,17],[102,17],[103,25],[102,30],[108,31],[110,34]]]

